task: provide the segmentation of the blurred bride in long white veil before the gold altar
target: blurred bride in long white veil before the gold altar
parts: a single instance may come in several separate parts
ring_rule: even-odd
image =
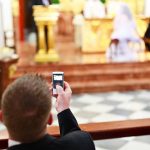
[[[114,19],[110,46],[107,49],[108,61],[135,61],[141,50],[141,38],[131,10],[126,3],[120,3]]]

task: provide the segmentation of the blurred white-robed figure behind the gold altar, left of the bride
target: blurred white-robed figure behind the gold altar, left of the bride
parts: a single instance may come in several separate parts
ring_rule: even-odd
[[[85,18],[105,17],[105,6],[100,0],[87,0],[84,7]]]

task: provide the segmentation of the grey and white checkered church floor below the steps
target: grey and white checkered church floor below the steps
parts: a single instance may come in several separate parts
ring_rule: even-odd
[[[71,110],[79,123],[150,118],[150,91],[73,95]],[[52,112],[53,125],[58,125],[54,108]],[[0,124],[0,130],[3,128]],[[95,144],[97,150],[150,150],[150,136],[100,140]]]

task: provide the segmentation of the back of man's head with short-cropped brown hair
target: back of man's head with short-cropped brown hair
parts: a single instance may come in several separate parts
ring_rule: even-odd
[[[46,130],[51,109],[48,84],[39,75],[24,75],[7,87],[1,106],[10,137],[32,142]]]

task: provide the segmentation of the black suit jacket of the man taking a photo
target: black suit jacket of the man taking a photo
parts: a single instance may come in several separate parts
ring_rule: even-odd
[[[80,130],[69,109],[58,114],[58,121],[59,139],[47,134],[36,142],[12,146],[8,150],[95,150],[90,135]]]

